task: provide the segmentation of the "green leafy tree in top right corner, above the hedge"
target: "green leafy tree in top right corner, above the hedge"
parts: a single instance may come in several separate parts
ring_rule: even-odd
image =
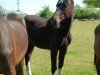
[[[100,0],[83,0],[83,3],[89,7],[100,8]]]

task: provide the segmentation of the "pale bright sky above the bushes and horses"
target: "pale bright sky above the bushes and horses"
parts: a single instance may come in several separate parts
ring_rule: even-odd
[[[58,0],[19,0],[20,10],[27,14],[36,14],[43,9],[43,6],[48,6],[51,11],[56,10],[56,3]],[[84,6],[82,0],[74,0],[75,5],[78,4],[81,7]],[[16,11],[17,0],[0,0],[0,5],[2,5],[7,10]]]

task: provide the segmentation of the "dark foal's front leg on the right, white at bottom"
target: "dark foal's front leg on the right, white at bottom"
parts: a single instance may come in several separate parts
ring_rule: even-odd
[[[64,64],[64,58],[65,58],[66,51],[67,51],[66,47],[62,47],[59,50],[58,75],[62,75],[62,67],[63,67],[63,64]]]

